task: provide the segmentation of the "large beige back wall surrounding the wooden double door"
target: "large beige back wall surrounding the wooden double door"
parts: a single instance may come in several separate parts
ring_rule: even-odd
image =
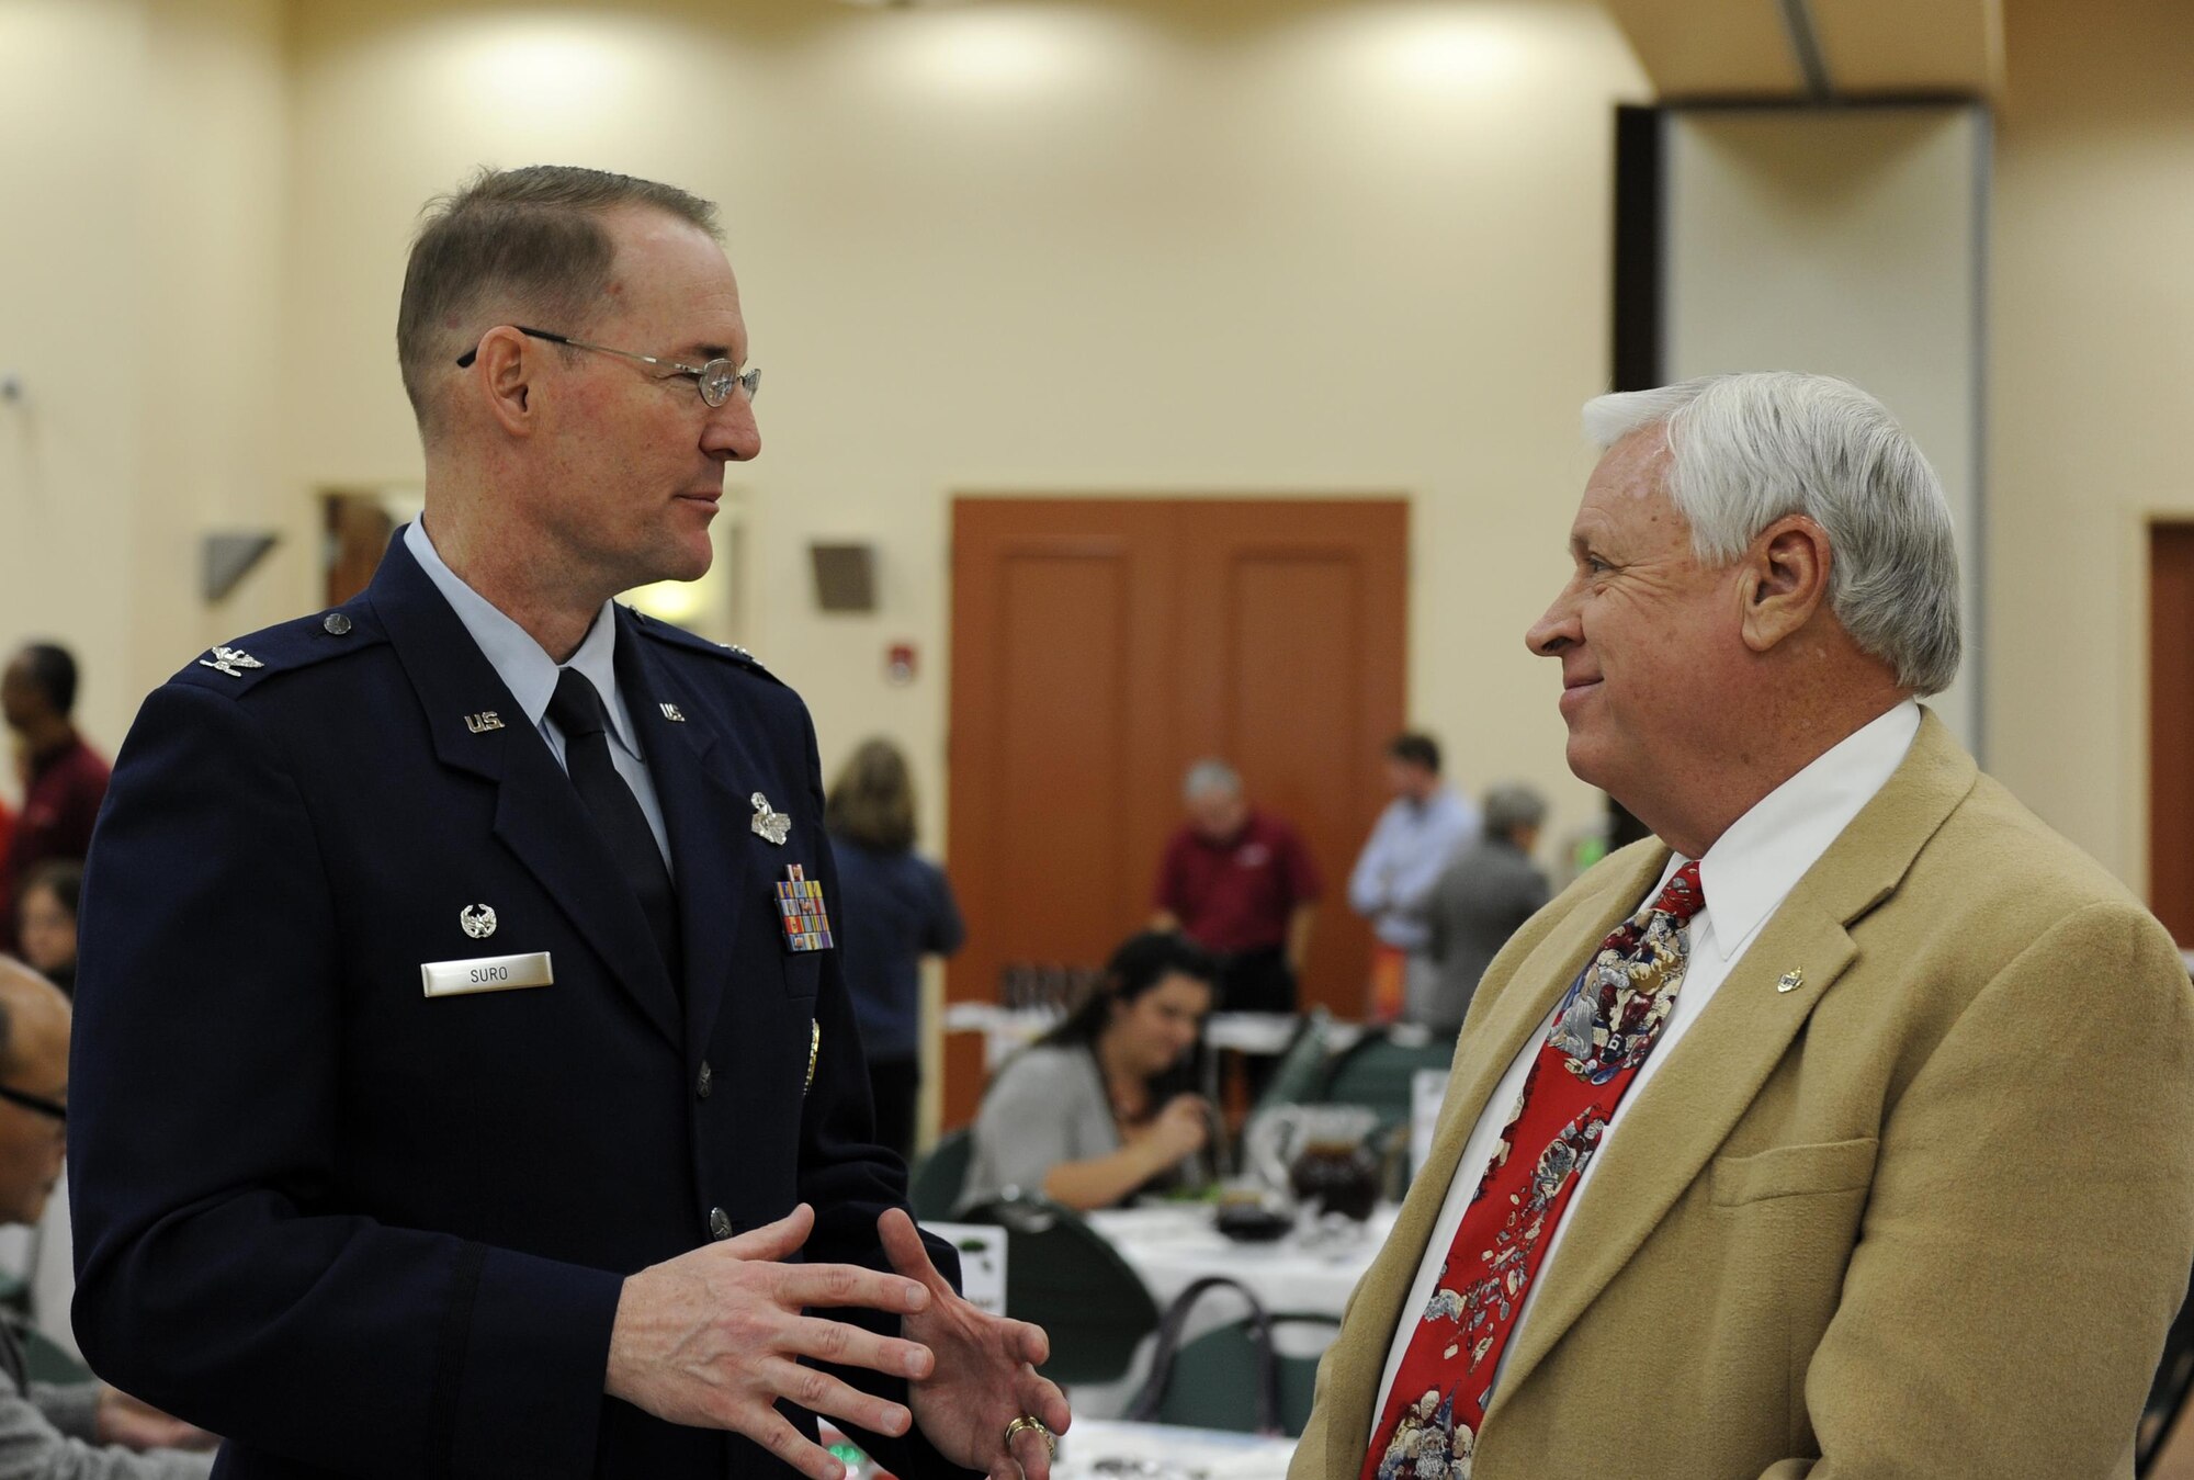
[[[1415,718],[1466,782],[1525,775],[1582,819],[1520,632],[1606,378],[1610,105],[1641,88],[1588,4],[320,0],[290,487],[417,476],[388,323],[426,195],[483,160],[678,180],[724,202],[766,367],[746,641],[825,764],[871,731],[911,749],[932,841],[957,492],[1409,492]],[[829,536],[878,542],[875,617],[812,610]],[[882,679],[895,639],[911,687]]]

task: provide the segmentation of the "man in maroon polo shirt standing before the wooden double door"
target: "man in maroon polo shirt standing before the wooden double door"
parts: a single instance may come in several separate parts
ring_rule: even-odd
[[[1294,1012],[1319,902],[1310,850],[1242,797],[1224,760],[1189,766],[1180,797],[1189,819],[1158,865],[1156,927],[1220,957],[1222,1012]]]

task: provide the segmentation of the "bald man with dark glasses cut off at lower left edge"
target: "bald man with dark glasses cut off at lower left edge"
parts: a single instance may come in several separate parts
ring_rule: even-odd
[[[37,1225],[61,1175],[68,999],[0,960],[0,1223]],[[31,1381],[0,1320],[0,1480],[197,1480],[213,1434],[99,1381]],[[138,1451],[145,1454],[138,1454]]]

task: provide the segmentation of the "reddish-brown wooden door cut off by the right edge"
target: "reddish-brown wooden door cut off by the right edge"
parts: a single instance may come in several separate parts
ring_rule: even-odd
[[[2148,529],[2148,907],[2194,946],[2194,525]]]

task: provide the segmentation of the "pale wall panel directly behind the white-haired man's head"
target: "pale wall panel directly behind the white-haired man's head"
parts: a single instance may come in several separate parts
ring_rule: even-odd
[[[1670,380],[1843,375],[1935,466],[1966,580],[1966,665],[1929,700],[1979,733],[1979,195],[1970,108],[1674,114],[1667,147]]]

